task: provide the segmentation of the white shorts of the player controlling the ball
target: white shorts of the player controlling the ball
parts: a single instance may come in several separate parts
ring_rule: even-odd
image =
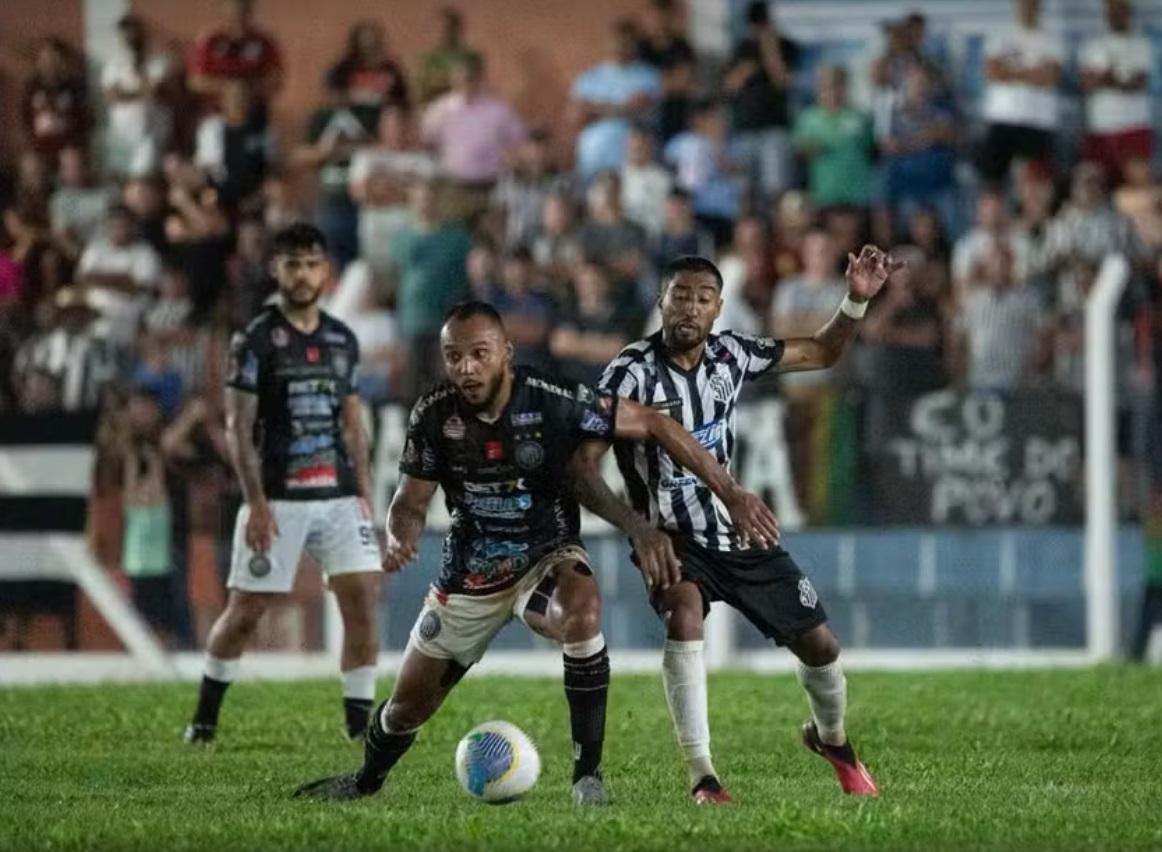
[[[442,595],[432,586],[408,644],[438,660],[456,660],[461,666],[479,663],[505,624],[512,618],[524,622],[525,609],[541,581],[558,566],[569,563],[588,567],[589,554],[572,544],[559,547],[538,561],[516,586],[494,595]]]

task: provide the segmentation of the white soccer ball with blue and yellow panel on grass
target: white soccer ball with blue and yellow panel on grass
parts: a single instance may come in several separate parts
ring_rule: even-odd
[[[456,776],[468,795],[489,804],[521,799],[540,775],[540,754],[529,735],[509,722],[485,722],[456,747]]]

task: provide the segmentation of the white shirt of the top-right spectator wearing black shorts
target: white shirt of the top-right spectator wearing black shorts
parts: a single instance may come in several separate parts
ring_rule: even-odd
[[[1020,69],[1032,69],[1045,62],[1063,64],[1062,40],[1041,29],[1014,27],[985,42],[985,59],[1004,59]],[[984,119],[991,123],[1055,130],[1061,122],[1055,88],[1030,86],[1026,83],[990,81],[984,91]]]

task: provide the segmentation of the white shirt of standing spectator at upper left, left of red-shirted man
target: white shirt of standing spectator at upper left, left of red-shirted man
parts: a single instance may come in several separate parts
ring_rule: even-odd
[[[139,92],[153,86],[173,72],[166,53],[145,57],[141,69],[134,64],[128,50],[114,53],[101,72],[101,88],[106,92]],[[157,170],[162,153],[170,139],[173,116],[168,105],[158,100],[110,101],[107,145],[109,165],[117,172],[148,174]]]

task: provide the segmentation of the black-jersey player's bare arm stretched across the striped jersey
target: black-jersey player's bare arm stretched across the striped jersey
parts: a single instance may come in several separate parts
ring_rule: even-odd
[[[779,542],[779,524],[774,513],[736,482],[718,460],[673,417],[650,406],[621,399],[614,435],[630,441],[654,441],[661,444],[674,461],[705,482],[726,504],[744,540],[754,542],[760,547],[773,546]]]

